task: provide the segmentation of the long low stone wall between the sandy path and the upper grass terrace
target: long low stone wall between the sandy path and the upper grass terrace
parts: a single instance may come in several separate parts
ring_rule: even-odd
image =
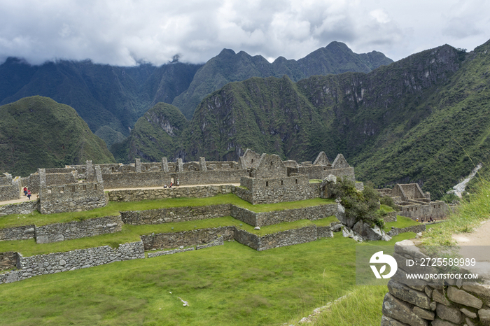
[[[229,194],[232,192],[232,185],[202,185],[197,187],[172,187],[161,189],[144,190],[109,190],[110,201],[140,201],[162,198],[179,197],[213,197],[217,194]]]

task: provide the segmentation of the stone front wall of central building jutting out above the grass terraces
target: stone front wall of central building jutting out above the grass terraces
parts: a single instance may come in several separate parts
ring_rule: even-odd
[[[241,192],[235,192],[252,204],[272,204],[283,201],[297,201],[311,199],[320,196],[318,186],[312,187],[307,176],[297,175],[283,178],[259,179],[243,177],[240,185],[248,188]],[[316,190],[314,190],[316,189]]]

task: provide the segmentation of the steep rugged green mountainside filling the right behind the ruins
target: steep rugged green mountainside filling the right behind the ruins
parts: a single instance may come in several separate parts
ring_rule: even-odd
[[[300,162],[325,150],[331,159],[343,153],[360,180],[418,182],[437,198],[488,162],[489,50],[490,41],[470,53],[442,45],[369,73],[228,83],[203,99],[180,136],[152,129],[172,146],[150,151],[147,137],[142,147],[135,127],[127,150],[116,150],[125,160],[237,160],[251,148]]]

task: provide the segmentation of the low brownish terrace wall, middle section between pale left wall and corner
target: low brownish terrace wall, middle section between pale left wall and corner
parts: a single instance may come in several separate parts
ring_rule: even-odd
[[[230,241],[234,238],[234,234],[235,227],[214,227],[182,232],[148,234],[141,236],[141,241],[144,243],[145,250],[169,249],[210,243],[220,236],[223,236],[225,241]]]

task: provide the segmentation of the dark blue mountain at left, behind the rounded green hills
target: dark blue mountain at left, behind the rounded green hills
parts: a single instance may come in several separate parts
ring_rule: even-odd
[[[108,146],[130,134],[134,122],[186,90],[200,64],[134,67],[59,60],[31,66],[8,58],[0,65],[0,104],[41,95],[69,105]]]

